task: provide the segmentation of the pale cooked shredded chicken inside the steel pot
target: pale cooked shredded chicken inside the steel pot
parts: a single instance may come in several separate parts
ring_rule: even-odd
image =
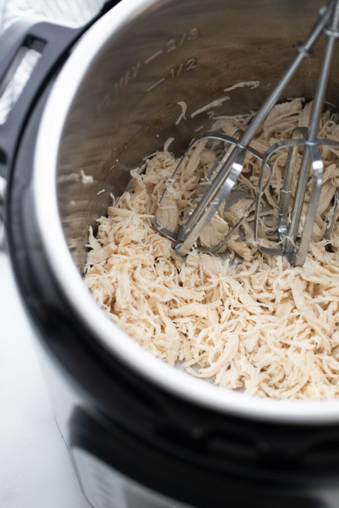
[[[263,153],[277,140],[291,137],[309,116],[310,106],[303,108],[301,99],[276,106],[254,148]],[[250,119],[219,117],[217,127],[233,134]],[[336,115],[324,113],[319,137],[339,139],[337,121]],[[98,304],[151,353],[222,387],[284,399],[339,395],[339,229],[333,229],[330,248],[321,240],[339,185],[338,150],[321,148],[325,174],[313,240],[304,265],[292,268],[283,257],[259,252],[253,214],[243,224],[243,241],[237,232],[228,242],[230,256],[195,249],[186,259],[178,256],[171,241],[153,227],[166,181],[178,163],[167,149],[131,171],[129,189],[113,201],[107,217],[98,219],[96,237],[89,229],[84,280]],[[193,150],[164,203],[166,226],[175,228],[214,159],[215,152],[205,144]],[[265,200],[273,213],[265,215],[263,206],[262,241],[278,212],[286,151],[271,162]],[[252,198],[258,171],[259,163],[248,157],[239,188]],[[250,202],[247,198],[226,212],[220,209],[201,242],[220,241]],[[232,262],[235,253],[241,257],[238,263]]]

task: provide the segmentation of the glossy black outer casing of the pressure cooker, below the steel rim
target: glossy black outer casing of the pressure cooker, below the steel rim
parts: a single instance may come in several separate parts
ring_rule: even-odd
[[[35,139],[48,93],[47,87],[16,157],[7,233],[18,287],[45,359],[76,394],[63,427],[71,452],[84,449],[134,482],[173,498],[168,506],[176,506],[174,499],[206,508],[226,502],[332,506],[326,499],[335,495],[339,478],[336,426],[267,424],[189,404],[107,355],[72,314],[39,238],[32,193]],[[62,414],[63,403],[59,406]],[[81,470],[81,464],[76,467]]]

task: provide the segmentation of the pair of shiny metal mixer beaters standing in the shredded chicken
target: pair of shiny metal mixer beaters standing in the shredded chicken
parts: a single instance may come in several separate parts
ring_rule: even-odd
[[[290,140],[284,140],[275,143],[264,154],[258,153],[250,146],[253,137],[266,119],[270,110],[279,100],[281,93],[299,68],[302,60],[306,56],[309,56],[312,46],[322,33],[327,36],[327,42],[325,45],[324,59],[315,93],[309,127],[307,129],[294,129],[292,138]],[[205,252],[215,252],[219,250],[254,209],[254,240],[258,242],[261,198],[265,192],[265,189],[269,185],[272,176],[269,158],[278,150],[288,148],[287,163],[285,168],[278,216],[278,240],[281,246],[267,247],[260,245],[260,242],[258,242],[258,248],[262,252],[266,252],[271,255],[285,255],[289,263],[293,266],[301,266],[304,263],[315,224],[323,181],[324,165],[318,146],[335,145],[339,147],[339,143],[334,140],[317,138],[326,86],[331,71],[335,39],[337,37],[339,37],[339,0],[331,0],[327,6],[323,7],[320,10],[319,19],[317,20],[316,24],[312,28],[305,41],[302,44],[298,44],[298,53],[296,57],[291,62],[290,66],[281,77],[279,83],[276,85],[268,99],[255,114],[248,126],[248,129],[246,129],[244,132],[240,130],[237,131],[233,137],[217,133],[204,134],[203,136],[200,136],[198,139],[196,139],[183,155],[172,177],[166,184],[166,190],[159,202],[154,221],[155,227],[162,235],[175,241],[174,249],[180,255],[186,255],[191,247],[197,242],[202,231],[209,223],[213,215],[218,211],[220,206],[223,203],[225,203],[225,206],[227,206],[227,200],[229,199],[231,191],[243,169],[245,155],[247,152],[250,152],[261,161],[259,185],[255,200],[251,203],[244,216],[227,233],[223,240],[218,243],[218,245],[214,245],[213,247],[208,248],[198,248]],[[198,193],[193,200],[193,205],[196,206],[189,210],[189,213],[187,213],[188,218],[186,223],[181,225],[178,229],[178,233],[175,234],[166,229],[166,227],[160,223],[159,211],[164,203],[166,196],[168,196],[170,189],[173,187],[173,183],[178,175],[178,172],[184,165],[190,151],[201,140],[206,139],[223,141],[225,142],[225,146],[222,153],[217,157],[217,160],[213,164],[208,175],[200,184]],[[296,189],[293,201],[291,202],[292,182],[295,175],[296,160],[299,147],[303,147],[303,153],[297,178]],[[265,174],[267,173],[268,176],[264,182]],[[302,208],[305,201],[307,183],[309,181],[310,175],[312,176],[312,184],[309,204],[307,206],[303,226],[301,227]],[[333,228],[338,205],[339,190],[337,190],[337,194],[334,199],[334,205],[330,212],[328,225],[324,235],[324,238],[326,239],[329,238]]]

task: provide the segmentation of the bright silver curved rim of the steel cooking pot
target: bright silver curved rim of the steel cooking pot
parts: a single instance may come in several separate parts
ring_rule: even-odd
[[[287,401],[250,396],[220,388],[170,367],[154,357],[109,320],[80,276],[59,220],[56,162],[65,119],[90,62],[108,37],[156,0],[121,0],[91,26],[73,49],[47,100],[34,153],[33,192],[37,225],[50,268],[77,318],[96,340],[128,368],[163,390],[225,414],[279,423],[330,424],[339,421],[339,400]]]

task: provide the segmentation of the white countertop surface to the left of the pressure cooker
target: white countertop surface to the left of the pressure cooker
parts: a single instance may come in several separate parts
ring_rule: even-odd
[[[0,506],[89,508],[53,418],[33,331],[0,252]]]

